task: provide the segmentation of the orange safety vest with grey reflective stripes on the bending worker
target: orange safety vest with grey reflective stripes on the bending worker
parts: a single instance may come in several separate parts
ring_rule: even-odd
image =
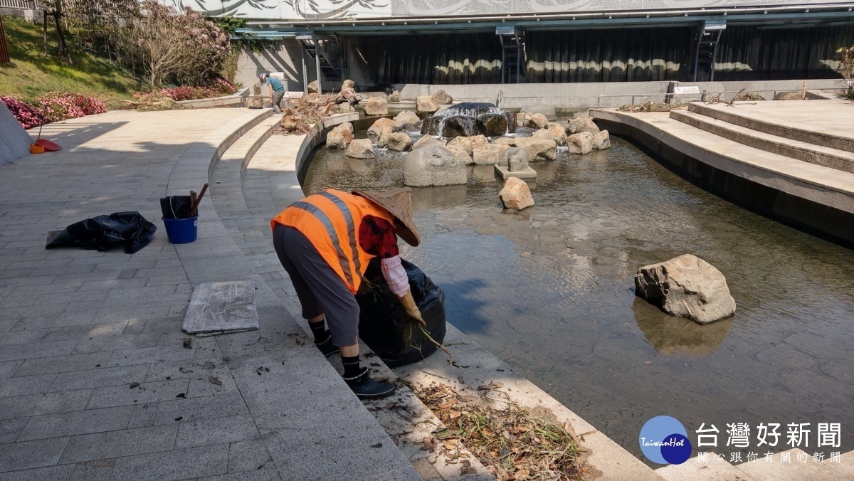
[[[302,232],[355,294],[368,262],[376,257],[365,252],[359,243],[359,227],[366,215],[393,223],[387,210],[365,197],[326,189],[291,204],[270,221],[270,227],[282,224]]]

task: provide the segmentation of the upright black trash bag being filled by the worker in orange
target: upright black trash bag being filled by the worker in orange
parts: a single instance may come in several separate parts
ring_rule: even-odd
[[[412,262],[401,259],[401,264],[409,276],[409,289],[427,323],[427,331],[437,343],[442,343],[445,339],[445,293]],[[370,290],[356,294],[360,308],[359,337],[389,367],[406,366],[433,354],[436,344],[424,336],[418,322],[407,315],[400,299],[389,290],[378,258],[371,260],[365,279],[371,283]]]

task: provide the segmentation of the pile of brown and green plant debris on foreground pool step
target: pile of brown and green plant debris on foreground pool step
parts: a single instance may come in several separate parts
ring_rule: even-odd
[[[465,446],[501,481],[522,479],[583,479],[587,470],[579,460],[582,451],[568,431],[571,428],[535,416],[510,402],[503,409],[489,408],[460,396],[447,384],[430,384],[412,391],[447,428],[425,437],[426,449],[438,446],[442,454],[465,463]],[[494,390],[500,383],[481,386]],[[473,468],[472,468],[473,469]]]

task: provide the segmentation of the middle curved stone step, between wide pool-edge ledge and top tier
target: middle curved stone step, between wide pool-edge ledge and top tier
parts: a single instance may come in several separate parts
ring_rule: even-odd
[[[705,132],[714,133],[722,138],[728,138],[739,144],[749,145],[773,154],[786,155],[798,159],[798,161],[854,173],[854,153],[846,150],[833,149],[753,130],[746,126],[740,126],[740,124],[699,114],[696,111],[671,110],[670,118],[705,130]]]

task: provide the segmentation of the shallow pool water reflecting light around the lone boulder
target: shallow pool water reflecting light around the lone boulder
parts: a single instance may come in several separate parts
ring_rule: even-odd
[[[315,153],[304,191],[402,185],[403,154]],[[854,448],[854,252],[752,214],[612,138],[611,150],[533,162],[537,202],[503,211],[492,166],[414,191],[423,243],[402,248],[447,295],[448,321],[640,455],[646,420],[811,423],[812,454]],[[738,311],[708,326],[635,297],[638,267],[692,253],[724,273]],[[842,424],[817,448],[817,423]],[[703,450],[707,450],[703,449]],[[748,451],[751,449],[745,449]],[[761,452],[760,452],[761,451]]]

